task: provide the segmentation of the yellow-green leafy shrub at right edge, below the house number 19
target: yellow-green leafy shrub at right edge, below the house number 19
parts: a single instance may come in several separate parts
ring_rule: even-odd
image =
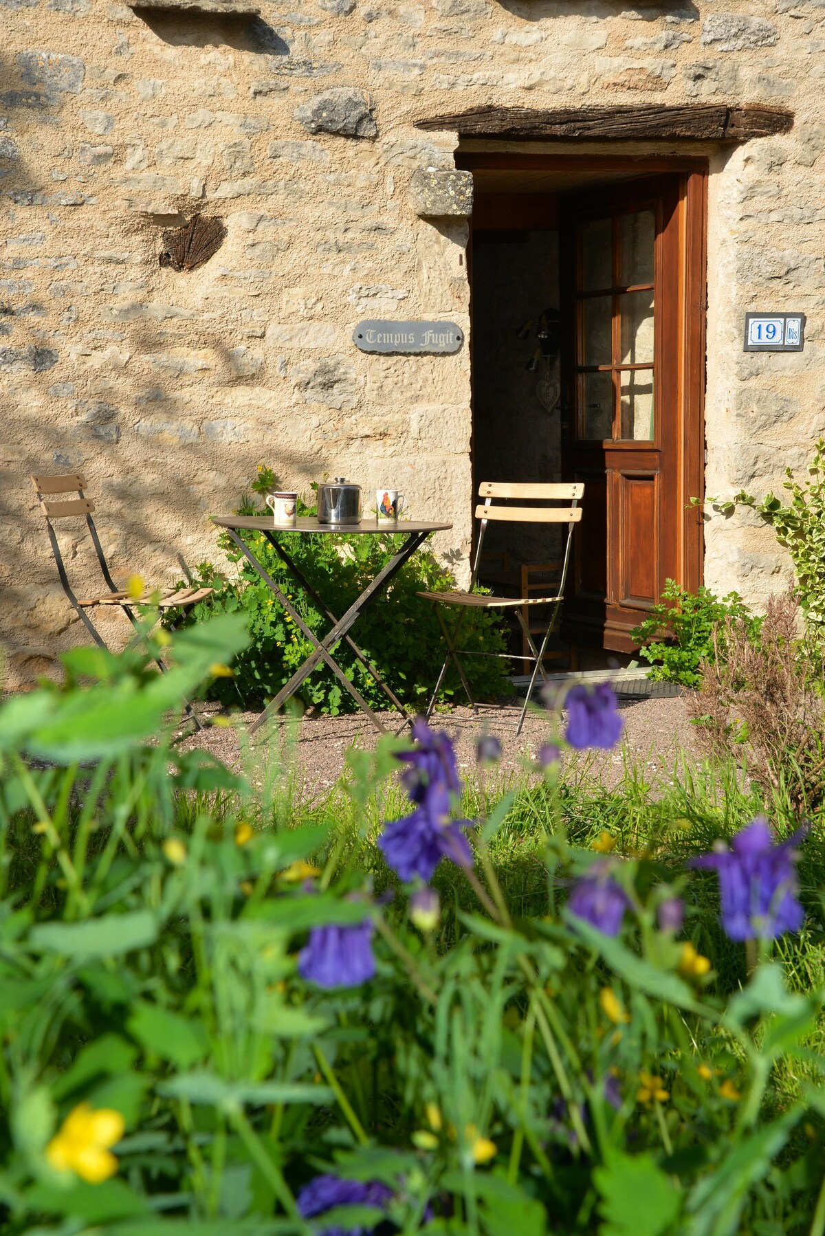
[[[763,498],[741,489],[730,499],[709,498],[719,510],[732,512],[737,506],[756,510],[773,528],[777,540],[788,550],[797,577],[799,603],[809,637],[825,641],[825,439],[820,438],[808,465],[810,480],[798,481],[785,468],[783,488],[789,501],[782,502],[768,492]]]

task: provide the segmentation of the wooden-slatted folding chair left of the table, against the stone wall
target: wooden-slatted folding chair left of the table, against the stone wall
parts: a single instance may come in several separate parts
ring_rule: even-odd
[[[61,585],[63,592],[68,597],[71,604],[78,613],[78,617],[83,622],[84,627],[92,635],[95,644],[100,648],[106,648],[106,641],[104,640],[100,632],[96,629],[92,618],[89,616],[90,609],[95,609],[98,606],[118,606],[119,609],[126,614],[132,627],[137,632],[132,644],[135,646],[145,638],[145,630],[140,622],[135,617],[134,608],[136,606],[153,606],[157,609],[188,609],[190,606],[197,604],[199,601],[204,601],[205,597],[210,596],[214,591],[213,588],[182,588],[178,592],[174,588],[145,588],[141,596],[135,597],[129,592],[124,592],[118,588],[115,581],[111,578],[111,572],[106,564],[105,554],[103,552],[103,546],[100,544],[100,538],[98,535],[98,529],[95,527],[94,519],[92,518],[95,509],[92,498],[87,498],[85,481],[82,476],[72,473],[69,476],[32,476],[32,485],[35,486],[35,492],[40,501],[43,514],[46,515],[46,527],[48,529],[48,539],[52,545],[52,552],[54,555],[54,561],[57,564],[57,574],[61,577]],[[75,498],[64,497],[68,493],[75,492]],[[57,498],[54,497],[57,496]],[[75,596],[72,585],[69,583],[68,575],[66,572],[66,564],[63,561],[63,554],[61,552],[59,541],[54,531],[53,520],[54,519],[68,519],[68,518],[85,518],[89,535],[92,536],[92,544],[94,545],[94,551],[98,556],[98,562],[100,565],[100,571],[103,574],[106,590],[100,593],[95,593],[92,597],[87,597],[79,601]],[[162,674],[166,674],[167,667],[161,660],[155,658],[155,661]],[[189,702],[186,706],[187,713],[192,717],[198,729],[202,728],[200,722],[194,714],[194,711]]]

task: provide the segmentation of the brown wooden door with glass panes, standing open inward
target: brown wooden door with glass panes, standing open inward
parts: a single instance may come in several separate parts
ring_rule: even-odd
[[[683,575],[682,188],[660,176],[562,203],[563,450],[585,483],[564,628],[585,646],[631,651]]]

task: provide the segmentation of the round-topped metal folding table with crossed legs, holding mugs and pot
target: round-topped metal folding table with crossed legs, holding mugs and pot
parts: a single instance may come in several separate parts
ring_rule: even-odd
[[[298,627],[307,639],[314,645],[314,651],[307,658],[301,669],[296,670],[289,681],[281,687],[275,700],[266,706],[257,721],[250,726],[250,733],[259,729],[260,726],[267,719],[267,717],[277,712],[283,705],[289,700],[298,687],[302,685],[304,679],[307,679],[312,671],[315,669],[319,661],[325,661],[330,670],[338,677],[339,682],[349,691],[355,702],[357,703],[361,712],[366,713],[376,729],[382,733],[387,732],[386,726],[382,724],[380,718],[372,712],[369,703],[361,695],[361,692],[355,687],[353,682],[346,677],[340,665],[334,660],[330,649],[334,648],[341,639],[344,639],[349,646],[353,649],[359,661],[369,670],[369,672],[375,679],[376,684],[381,687],[383,693],[391,701],[393,708],[396,708],[404,722],[409,721],[409,714],[407,709],[401,703],[395,692],[387,686],[375,666],[367,660],[366,655],[357,646],[355,640],[350,637],[350,627],[357,622],[364,611],[375,601],[376,596],[386,588],[392,577],[397,575],[401,567],[404,565],[407,559],[416,552],[416,550],[424,544],[430,533],[448,531],[451,524],[433,524],[433,523],[413,523],[402,520],[401,523],[378,523],[377,519],[364,519],[360,524],[319,524],[313,517],[303,515],[298,519],[297,524],[291,527],[283,527],[275,524],[271,515],[213,515],[213,523],[218,524],[219,528],[225,528],[231,539],[235,541],[240,551],[244,554],[250,565],[257,571],[263,582],[271,590],[272,595],[277,598],[280,604],[283,606],[286,612],[289,614],[296,627]],[[244,538],[239,535],[242,531],[259,531],[262,533],[275,552],[278,555],[281,561],[284,564],[289,574],[294,580],[298,581],[301,587],[307,592],[309,597],[314,601],[318,608],[327,616],[330,620],[331,629],[324,635],[323,639],[318,639],[314,632],[309,629],[307,623],[303,620],[301,614],[297,612],[294,606],[291,603],[289,598],[284,596],[282,590],[278,587],[276,581],[268,574],[268,571],[259,562],[255,554],[246,544]],[[292,561],[283,545],[281,544],[278,535],[289,533],[294,535],[296,533],[303,535],[327,535],[327,536],[353,536],[353,535],[386,535],[387,533],[401,534],[406,538],[400,550],[393,554],[393,556],[386,562],[386,565],[378,571],[376,577],[367,585],[357,601],[354,601],[345,614],[336,618],[331,609],[327,606],[324,601],[318,596],[312,585],[304,578],[301,570]]]

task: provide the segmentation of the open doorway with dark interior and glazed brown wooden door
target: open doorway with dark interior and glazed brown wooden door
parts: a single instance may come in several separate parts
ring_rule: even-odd
[[[584,482],[562,638],[631,654],[665,580],[701,583],[706,162],[460,151],[456,166],[475,182],[474,492]],[[558,559],[554,533],[497,528],[494,582]]]

